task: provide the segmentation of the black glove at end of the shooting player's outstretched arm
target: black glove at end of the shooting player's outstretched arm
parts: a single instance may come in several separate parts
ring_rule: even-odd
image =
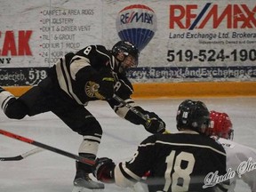
[[[149,112],[147,115],[148,121],[144,121],[143,126],[146,131],[153,134],[165,132],[164,121],[153,112]]]

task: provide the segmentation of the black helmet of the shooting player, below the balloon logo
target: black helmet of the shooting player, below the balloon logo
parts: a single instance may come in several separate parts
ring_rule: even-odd
[[[117,42],[113,48],[112,53],[116,57],[118,52],[124,52],[124,55],[132,55],[132,57],[135,59],[135,66],[138,66],[138,60],[139,60],[139,50],[130,42],[128,41],[119,41]]]

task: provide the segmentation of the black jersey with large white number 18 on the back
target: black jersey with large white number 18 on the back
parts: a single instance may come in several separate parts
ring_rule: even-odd
[[[148,171],[150,192],[213,191],[203,188],[204,180],[211,172],[226,173],[226,154],[219,143],[197,132],[152,135],[140,143],[131,161],[116,165],[115,179],[124,177],[116,184],[140,180]]]

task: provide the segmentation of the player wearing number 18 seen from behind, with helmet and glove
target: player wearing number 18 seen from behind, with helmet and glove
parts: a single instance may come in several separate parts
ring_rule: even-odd
[[[204,103],[184,100],[176,121],[179,132],[149,136],[130,161],[114,164],[108,157],[98,158],[95,177],[126,188],[149,172],[144,180],[149,192],[227,191],[218,178],[226,174],[226,154],[206,135],[210,116]]]

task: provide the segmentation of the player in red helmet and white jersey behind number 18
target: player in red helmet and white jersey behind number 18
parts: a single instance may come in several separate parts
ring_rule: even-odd
[[[227,169],[235,171],[236,174],[230,178],[230,187],[228,192],[234,192],[236,189],[236,180],[244,180],[251,188],[256,191],[256,170],[250,169],[252,164],[256,165],[256,149],[249,148],[233,141],[234,130],[231,119],[227,113],[221,113],[212,110],[210,113],[212,120],[212,129],[209,133],[215,140],[218,140],[227,154]],[[244,164],[247,168],[244,169]]]

